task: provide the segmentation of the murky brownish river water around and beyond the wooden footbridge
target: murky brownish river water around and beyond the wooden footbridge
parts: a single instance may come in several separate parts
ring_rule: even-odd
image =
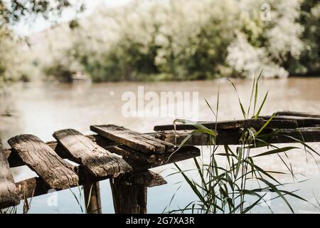
[[[235,81],[238,93],[243,103],[250,98],[252,81]],[[142,86],[142,87],[141,87]],[[141,92],[143,88],[144,91]],[[89,127],[94,124],[122,125],[139,132],[151,132],[154,125],[169,124],[174,120],[171,115],[154,116],[127,116],[123,108],[127,100],[123,100],[124,94],[136,95],[136,101],[146,99],[143,95],[152,91],[161,95],[161,92],[190,92],[191,96],[198,93],[198,105],[183,115],[198,120],[214,120],[213,114],[206,105],[205,98],[210,105],[215,107],[219,88],[218,120],[233,120],[242,118],[238,97],[228,81],[186,81],[186,82],[159,82],[159,83],[100,83],[100,84],[23,84],[5,88],[0,96],[0,138],[5,147],[9,147],[6,141],[14,135],[29,133],[37,135],[43,141],[53,140],[52,133],[63,128],[75,128],[84,134],[90,134]],[[140,92],[139,92],[140,90]],[[320,113],[320,78],[288,78],[278,80],[260,81],[259,92],[262,101],[263,95],[270,90],[261,114],[271,115],[277,110],[295,110],[311,113]],[[129,92],[129,93],[128,93]],[[132,93],[130,93],[132,92]],[[140,96],[139,96],[140,93]],[[142,96],[141,96],[142,95]],[[194,100],[193,100],[194,101]],[[160,105],[160,102],[159,102]],[[172,108],[174,103],[168,103]],[[144,105],[137,105],[137,111]],[[163,106],[159,106],[159,109]],[[320,152],[320,143],[310,143],[316,151]],[[203,155],[208,155],[203,148]],[[302,150],[290,152],[290,162],[294,172],[299,173],[302,183],[289,185],[287,190],[299,190],[298,195],[316,204],[320,199],[320,171],[316,162],[310,157],[306,159]],[[320,157],[316,157],[320,162]],[[259,160],[260,165],[267,170],[287,171],[279,157],[267,157]],[[193,167],[192,160],[179,162],[183,169]],[[172,170],[172,165],[155,168],[166,177]],[[14,179],[24,180],[35,176],[27,167],[14,168]],[[193,175],[191,173],[191,175]],[[305,176],[305,177],[304,177]],[[288,175],[277,176],[282,182],[292,182]],[[181,183],[180,175],[166,177],[168,185],[149,188],[148,211],[162,212],[169,204],[171,197],[176,193],[170,209],[184,207],[195,199],[191,190],[185,183]],[[178,187],[179,190],[176,192]],[[104,213],[112,213],[112,196],[109,181],[100,182],[102,192],[102,208]],[[72,191],[80,197],[80,191],[73,188]],[[308,202],[288,197],[295,212],[319,213]],[[281,199],[275,199],[271,203],[274,212],[290,212]],[[22,205],[18,207],[21,212]],[[83,209],[83,205],[82,205]],[[70,190],[64,190],[53,195],[34,197],[29,213],[81,213],[81,207],[77,203]],[[267,207],[257,207],[254,212],[270,212]]]

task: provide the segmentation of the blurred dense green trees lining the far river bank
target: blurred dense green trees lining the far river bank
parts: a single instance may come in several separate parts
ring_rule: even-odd
[[[316,0],[132,1],[28,37],[1,24],[0,82],[317,74],[319,28]]]

